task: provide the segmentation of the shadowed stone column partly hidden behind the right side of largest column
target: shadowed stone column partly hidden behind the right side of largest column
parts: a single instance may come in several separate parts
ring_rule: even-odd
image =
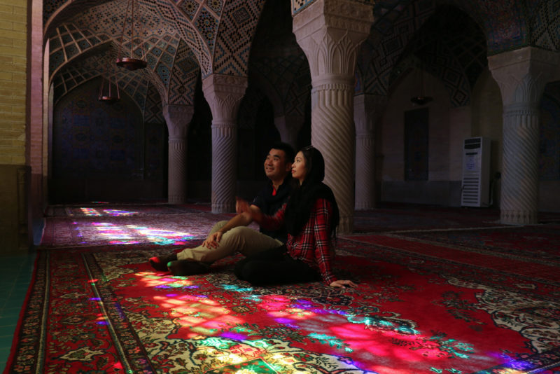
[[[377,206],[375,123],[385,109],[387,98],[379,95],[354,97],[354,123],[356,124],[356,209],[373,209]]]

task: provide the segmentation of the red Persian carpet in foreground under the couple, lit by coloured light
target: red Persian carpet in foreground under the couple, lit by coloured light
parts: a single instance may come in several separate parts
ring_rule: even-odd
[[[179,246],[43,249],[4,374],[559,373],[559,282],[361,239],[338,241],[353,290],[146,262]]]

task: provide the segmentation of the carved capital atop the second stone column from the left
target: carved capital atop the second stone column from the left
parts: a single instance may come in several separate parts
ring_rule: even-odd
[[[202,80],[202,91],[210,106],[213,123],[235,122],[246,88],[246,76],[211,74]]]

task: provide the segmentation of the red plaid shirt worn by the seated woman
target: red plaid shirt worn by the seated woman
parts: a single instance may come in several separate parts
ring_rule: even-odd
[[[285,213],[286,204],[274,216],[263,216],[260,224],[268,229],[278,228],[284,221]],[[322,198],[317,199],[311,214],[309,214],[309,220],[300,233],[295,237],[288,233],[288,241],[286,242],[288,254],[295,260],[303,261],[317,270],[323,277],[323,282],[327,285],[337,280],[331,269],[332,258],[335,254],[330,242],[329,221],[331,214],[332,206],[330,202]]]

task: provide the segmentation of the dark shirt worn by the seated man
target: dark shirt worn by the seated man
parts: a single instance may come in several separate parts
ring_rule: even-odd
[[[284,182],[276,191],[276,195],[272,195],[274,187],[272,186],[272,181],[270,181],[265,188],[262,188],[262,190],[259,191],[251,204],[259,207],[262,213],[266,214],[267,216],[273,216],[276,212],[279,211],[284,203],[288,202],[288,197],[290,196],[290,192],[292,191],[292,183],[290,182],[290,177],[284,179]],[[286,225],[282,225],[281,228],[274,231],[265,230],[261,227],[260,232],[268,235],[269,237],[274,237],[274,239],[278,239],[283,243],[288,240],[288,231],[286,231]]]

